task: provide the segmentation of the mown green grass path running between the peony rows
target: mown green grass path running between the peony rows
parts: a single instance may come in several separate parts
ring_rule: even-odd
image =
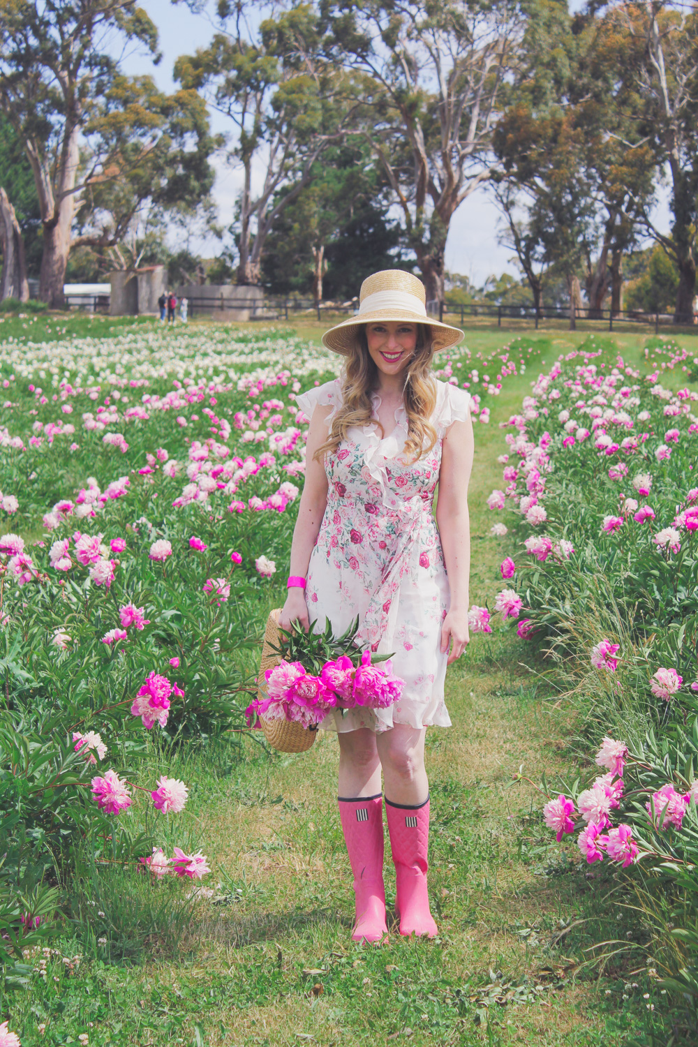
[[[511,340],[478,331],[466,344],[488,356]],[[510,551],[508,539],[490,535],[496,517],[485,508],[501,483],[498,422],[520,407],[539,361],[549,366],[580,342],[565,333],[532,340],[526,373],[506,380],[489,400],[490,425],[476,426],[476,603],[499,587],[497,566]],[[616,343],[639,363],[646,340],[633,333]],[[646,936],[622,908],[622,885],[556,844],[540,795],[513,780],[521,765],[533,781],[575,766],[575,709],[558,700],[547,672],[512,630],[474,638],[449,671],[454,726],[427,736],[436,942],[407,941],[395,929],[382,948],[350,940],[336,739],[320,734],[305,755],[270,756],[235,735],[168,763],[193,786],[190,844],[208,854],[215,871],[204,886],[213,895],[187,898],[180,883],[121,871],[81,884],[61,955],[25,993],[0,993],[0,1018],[12,1017],[23,1047],[75,1043],[83,1032],[90,1044],[140,1047],[620,1047],[648,1021],[661,1037],[667,997],[644,974]],[[388,861],[386,887],[392,901]],[[598,943],[616,938],[624,951],[592,962]],[[83,960],[71,971],[63,958],[76,954]]]

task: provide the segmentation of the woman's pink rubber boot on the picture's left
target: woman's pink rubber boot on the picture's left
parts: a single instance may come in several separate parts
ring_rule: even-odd
[[[387,934],[383,887],[383,800],[339,797],[346,850],[354,873],[356,925],[353,941],[380,941]]]

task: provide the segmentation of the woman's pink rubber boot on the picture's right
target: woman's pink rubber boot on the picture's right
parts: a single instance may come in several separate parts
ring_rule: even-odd
[[[427,852],[429,849],[429,797],[419,807],[385,801],[392,861],[398,881],[397,909],[400,933],[435,938],[438,928],[429,910]]]

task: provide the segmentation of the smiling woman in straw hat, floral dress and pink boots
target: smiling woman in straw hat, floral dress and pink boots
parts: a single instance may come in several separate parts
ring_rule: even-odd
[[[430,367],[434,352],[461,338],[427,317],[424,285],[411,273],[374,273],[358,315],[322,338],[345,357],[341,378],[297,398],[311,422],[280,625],[323,628],[327,618],[339,634],[358,616],[361,640],[392,653],[405,681],[388,709],[334,712],[321,725],[339,735],[356,941],[387,933],[381,771],[400,933],[437,934],[426,879],[424,740],[427,727],[451,722],[446,666],[468,643],[473,432],[469,395],[435,381]]]

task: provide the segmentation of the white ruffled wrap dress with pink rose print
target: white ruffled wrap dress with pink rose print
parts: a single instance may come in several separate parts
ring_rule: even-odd
[[[306,599],[311,621],[325,619],[339,634],[359,618],[361,640],[379,653],[392,653],[393,672],[405,681],[402,697],[387,709],[329,713],[325,731],[389,730],[393,723],[450,727],[444,704],[447,653],[441,627],[450,592],[432,512],[442,442],[455,421],[465,421],[470,396],[436,382],[431,419],[437,442],[418,462],[401,456],[407,415],[396,411],[396,427],[380,439],[377,423],[350,430],[325,456],[328,508],[308,567]],[[380,398],[374,395],[374,413]],[[317,404],[331,405],[328,426],[341,403],[335,379],[297,397],[311,418]]]

